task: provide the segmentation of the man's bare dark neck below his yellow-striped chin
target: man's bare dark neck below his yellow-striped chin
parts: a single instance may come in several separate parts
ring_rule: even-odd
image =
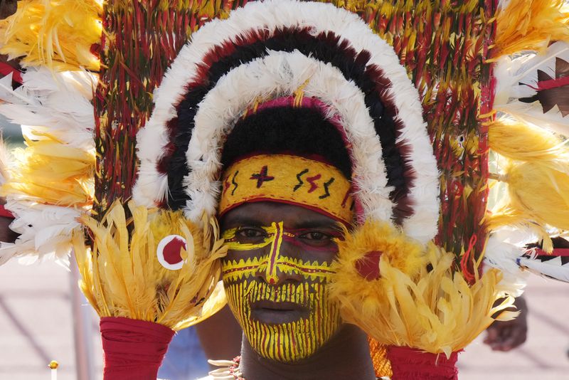
[[[260,357],[243,336],[240,368],[246,380],[376,379],[366,334],[351,324],[344,324],[312,357],[290,364]]]

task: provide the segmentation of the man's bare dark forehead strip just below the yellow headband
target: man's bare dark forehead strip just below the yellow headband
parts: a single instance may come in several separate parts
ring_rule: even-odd
[[[337,222],[317,211],[303,206],[273,201],[242,204],[225,213],[221,218],[223,229],[238,226],[270,226],[280,222],[287,228],[310,228],[336,226]]]

